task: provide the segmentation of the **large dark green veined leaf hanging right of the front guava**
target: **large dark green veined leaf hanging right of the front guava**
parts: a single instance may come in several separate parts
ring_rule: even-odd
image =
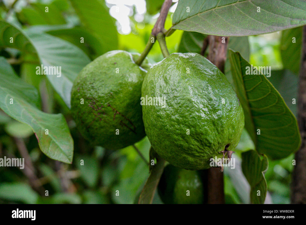
[[[300,146],[297,120],[282,96],[264,75],[246,75],[251,65],[239,52],[230,50],[229,58],[237,96],[244,110],[245,128],[256,150],[272,159],[285,158],[297,151]]]

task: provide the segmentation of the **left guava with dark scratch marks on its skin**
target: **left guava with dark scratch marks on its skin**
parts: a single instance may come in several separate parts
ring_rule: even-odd
[[[71,111],[83,137],[116,150],[145,136],[139,99],[146,72],[132,54],[120,50],[109,51],[82,69],[73,83]]]

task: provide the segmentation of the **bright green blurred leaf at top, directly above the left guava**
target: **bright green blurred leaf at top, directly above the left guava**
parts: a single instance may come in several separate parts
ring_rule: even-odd
[[[114,21],[102,1],[70,0],[84,27],[100,40],[103,51],[118,47],[118,34]]]

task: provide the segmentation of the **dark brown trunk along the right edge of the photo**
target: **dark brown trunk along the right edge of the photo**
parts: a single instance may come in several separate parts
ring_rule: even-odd
[[[302,138],[300,150],[295,153],[296,165],[291,184],[291,203],[306,204],[306,26],[302,33],[302,53],[300,64],[298,116],[297,121]]]

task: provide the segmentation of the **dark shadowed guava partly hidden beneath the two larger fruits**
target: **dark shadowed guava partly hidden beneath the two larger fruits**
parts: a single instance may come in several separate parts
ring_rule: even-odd
[[[158,193],[165,204],[203,204],[204,201],[204,188],[199,172],[170,164],[162,173]]]

